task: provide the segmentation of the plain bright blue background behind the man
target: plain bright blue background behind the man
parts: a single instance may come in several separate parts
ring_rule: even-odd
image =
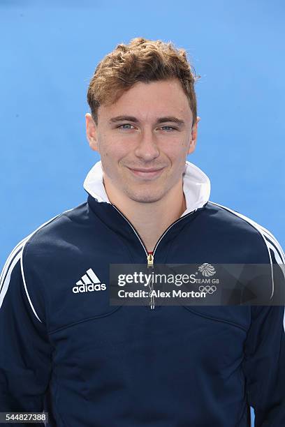
[[[280,1],[0,0],[1,255],[86,199],[94,68],[136,36],[184,47],[196,84],[210,200],[284,230],[284,12]]]

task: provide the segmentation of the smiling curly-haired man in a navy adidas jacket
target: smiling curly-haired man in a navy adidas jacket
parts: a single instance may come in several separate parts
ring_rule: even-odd
[[[285,426],[284,306],[112,306],[110,264],[281,264],[272,234],[210,202],[187,161],[184,50],[118,45],[89,84],[87,202],[23,239],[1,276],[0,410],[50,426]],[[273,283],[273,282],[272,282]],[[22,425],[22,424],[21,424]]]

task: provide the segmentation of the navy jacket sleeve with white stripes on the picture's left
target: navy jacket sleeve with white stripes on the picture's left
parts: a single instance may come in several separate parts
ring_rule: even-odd
[[[51,373],[52,348],[41,313],[42,297],[25,281],[23,248],[19,244],[13,250],[1,274],[0,412],[42,412]],[[19,423],[24,425],[31,424]]]

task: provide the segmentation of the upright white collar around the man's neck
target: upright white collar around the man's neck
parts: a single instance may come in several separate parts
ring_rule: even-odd
[[[95,197],[98,202],[110,203],[103,184],[101,160],[95,163],[89,171],[83,186],[87,193],[92,195],[92,197]],[[182,216],[203,207],[203,205],[209,200],[210,190],[211,184],[207,175],[200,170],[198,166],[193,165],[193,163],[186,160],[183,173],[183,192],[185,195],[187,209],[182,213]]]

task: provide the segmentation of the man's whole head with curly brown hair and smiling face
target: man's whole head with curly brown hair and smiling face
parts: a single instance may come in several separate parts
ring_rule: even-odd
[[[195,81],[185,51],[161,40],[135,38],[98,64],[87,93],[87,138],[111,194],[156,202],[182,183],[200,119]]]

